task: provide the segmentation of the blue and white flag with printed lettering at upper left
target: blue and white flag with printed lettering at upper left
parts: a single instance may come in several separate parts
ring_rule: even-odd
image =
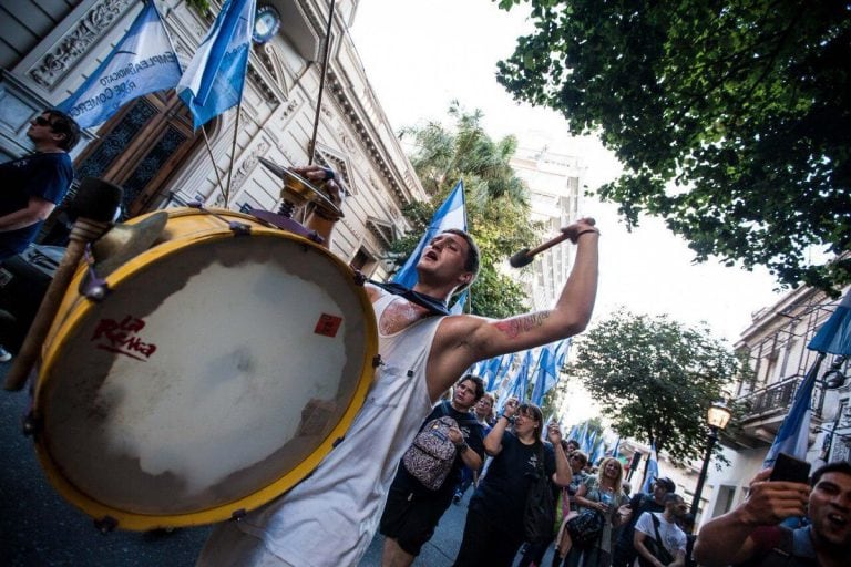
[[[133,99],[174,87],[180,79],[172,41],[155,2],[150,1],[103,63],[57,109],[88,128]]]

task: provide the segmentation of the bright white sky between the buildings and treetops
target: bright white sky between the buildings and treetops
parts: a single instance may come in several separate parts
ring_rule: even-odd
[[[484,112],[492,136],[515,134],[521,145],[550,140],[555,152],[580,155],[583,183],[596,188],[619,165],[593,138],[570,138],[552,111],[514,102],[496,83],[496,61],[532,29],[524,12],[499,10],[490,0],[361,0],[351,34],[372,86],[394,130],[445,121],[450,101]],[[710,261],[693,265],[686,243],[656,219],[628,234],[614,205],[585,199],[583,214],[597,219],[601,287],[595,319],[625,306],[637,313],[670,313],[689,324],[707,321],[734,342],[750,313],[772,303],[773,279]]]

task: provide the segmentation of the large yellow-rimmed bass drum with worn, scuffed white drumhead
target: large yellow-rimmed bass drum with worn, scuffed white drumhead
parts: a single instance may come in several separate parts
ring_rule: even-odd
[[[172,209],[105,299],[76,293],[84,276],[45,342],[32,423],[52,484],[102,526],[238,517],[312,471],[363,403],[369,298],[306,238]]]

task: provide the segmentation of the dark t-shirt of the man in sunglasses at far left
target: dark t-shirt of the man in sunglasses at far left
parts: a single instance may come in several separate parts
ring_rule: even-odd
[[[33,154],[0,164],[0,216],[27,208],[30,197],[59,204],[68,193],[74,171],[71,157],[62,153]],[[27,248],[39,234],[41,223],[0,233],[0,256],[9,257]]]

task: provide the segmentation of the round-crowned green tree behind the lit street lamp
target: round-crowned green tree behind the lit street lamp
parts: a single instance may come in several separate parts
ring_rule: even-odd
[[[706,410],[738,371],[736,355],[707,328],[622,309],[574,346],[568,373],[619,435],[656,443],[675,463],[701,456]]]

